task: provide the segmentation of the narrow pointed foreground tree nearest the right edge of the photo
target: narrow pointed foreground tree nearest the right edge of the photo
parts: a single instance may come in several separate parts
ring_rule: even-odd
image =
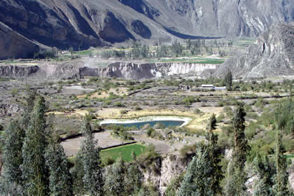
[[[274,195],[276,196],[293,195],[288,189],[287,160],[283,155],[284,151],[281,132],[276,130],[276,175],[274,176]]]

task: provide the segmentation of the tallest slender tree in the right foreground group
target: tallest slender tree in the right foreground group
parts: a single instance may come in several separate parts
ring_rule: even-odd
[[[246,156],[250,150],[245,137],[245,116],[244,106],[239,105],[232,119],[235,132],[235,146],[232,154],[232,162],[229,165],[229,179],[225,186],[225,195],[246,195],[246,172],[244,171]]]

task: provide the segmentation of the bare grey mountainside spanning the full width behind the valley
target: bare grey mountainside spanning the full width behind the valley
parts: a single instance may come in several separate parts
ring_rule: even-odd
[[[257,36],[293,20],[294,0],[1,0],[0,59],[45,46]]]

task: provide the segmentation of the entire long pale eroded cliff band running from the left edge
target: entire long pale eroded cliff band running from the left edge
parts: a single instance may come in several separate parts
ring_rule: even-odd
[[[109,66],[90,68],[73,65],[71,62],[42,64],[42,65],[1,65],[0,77],[6,78],[42,78],[43,80],[57,80],[61,78],[83,78],[98,76],[100,78],[151,79],[172,76],[176,74],[192,73],[200,76],[204,71],[216,71],[218,64],[193,63],[151,63],[134,64],[116,62]]]

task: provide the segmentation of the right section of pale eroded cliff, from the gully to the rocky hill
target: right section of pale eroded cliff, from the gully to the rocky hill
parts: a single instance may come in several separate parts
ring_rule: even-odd
[[[204,70],[216,70],[218,64],[194,64],[194,63],[150,63],[134,64],[128,62],[116,62],[100,68],[80,68],[80,77],[99,76],[101,78],[118,77],[127,79],[150,79],[172,76],[176,74],[194,73],[199,76]]]

